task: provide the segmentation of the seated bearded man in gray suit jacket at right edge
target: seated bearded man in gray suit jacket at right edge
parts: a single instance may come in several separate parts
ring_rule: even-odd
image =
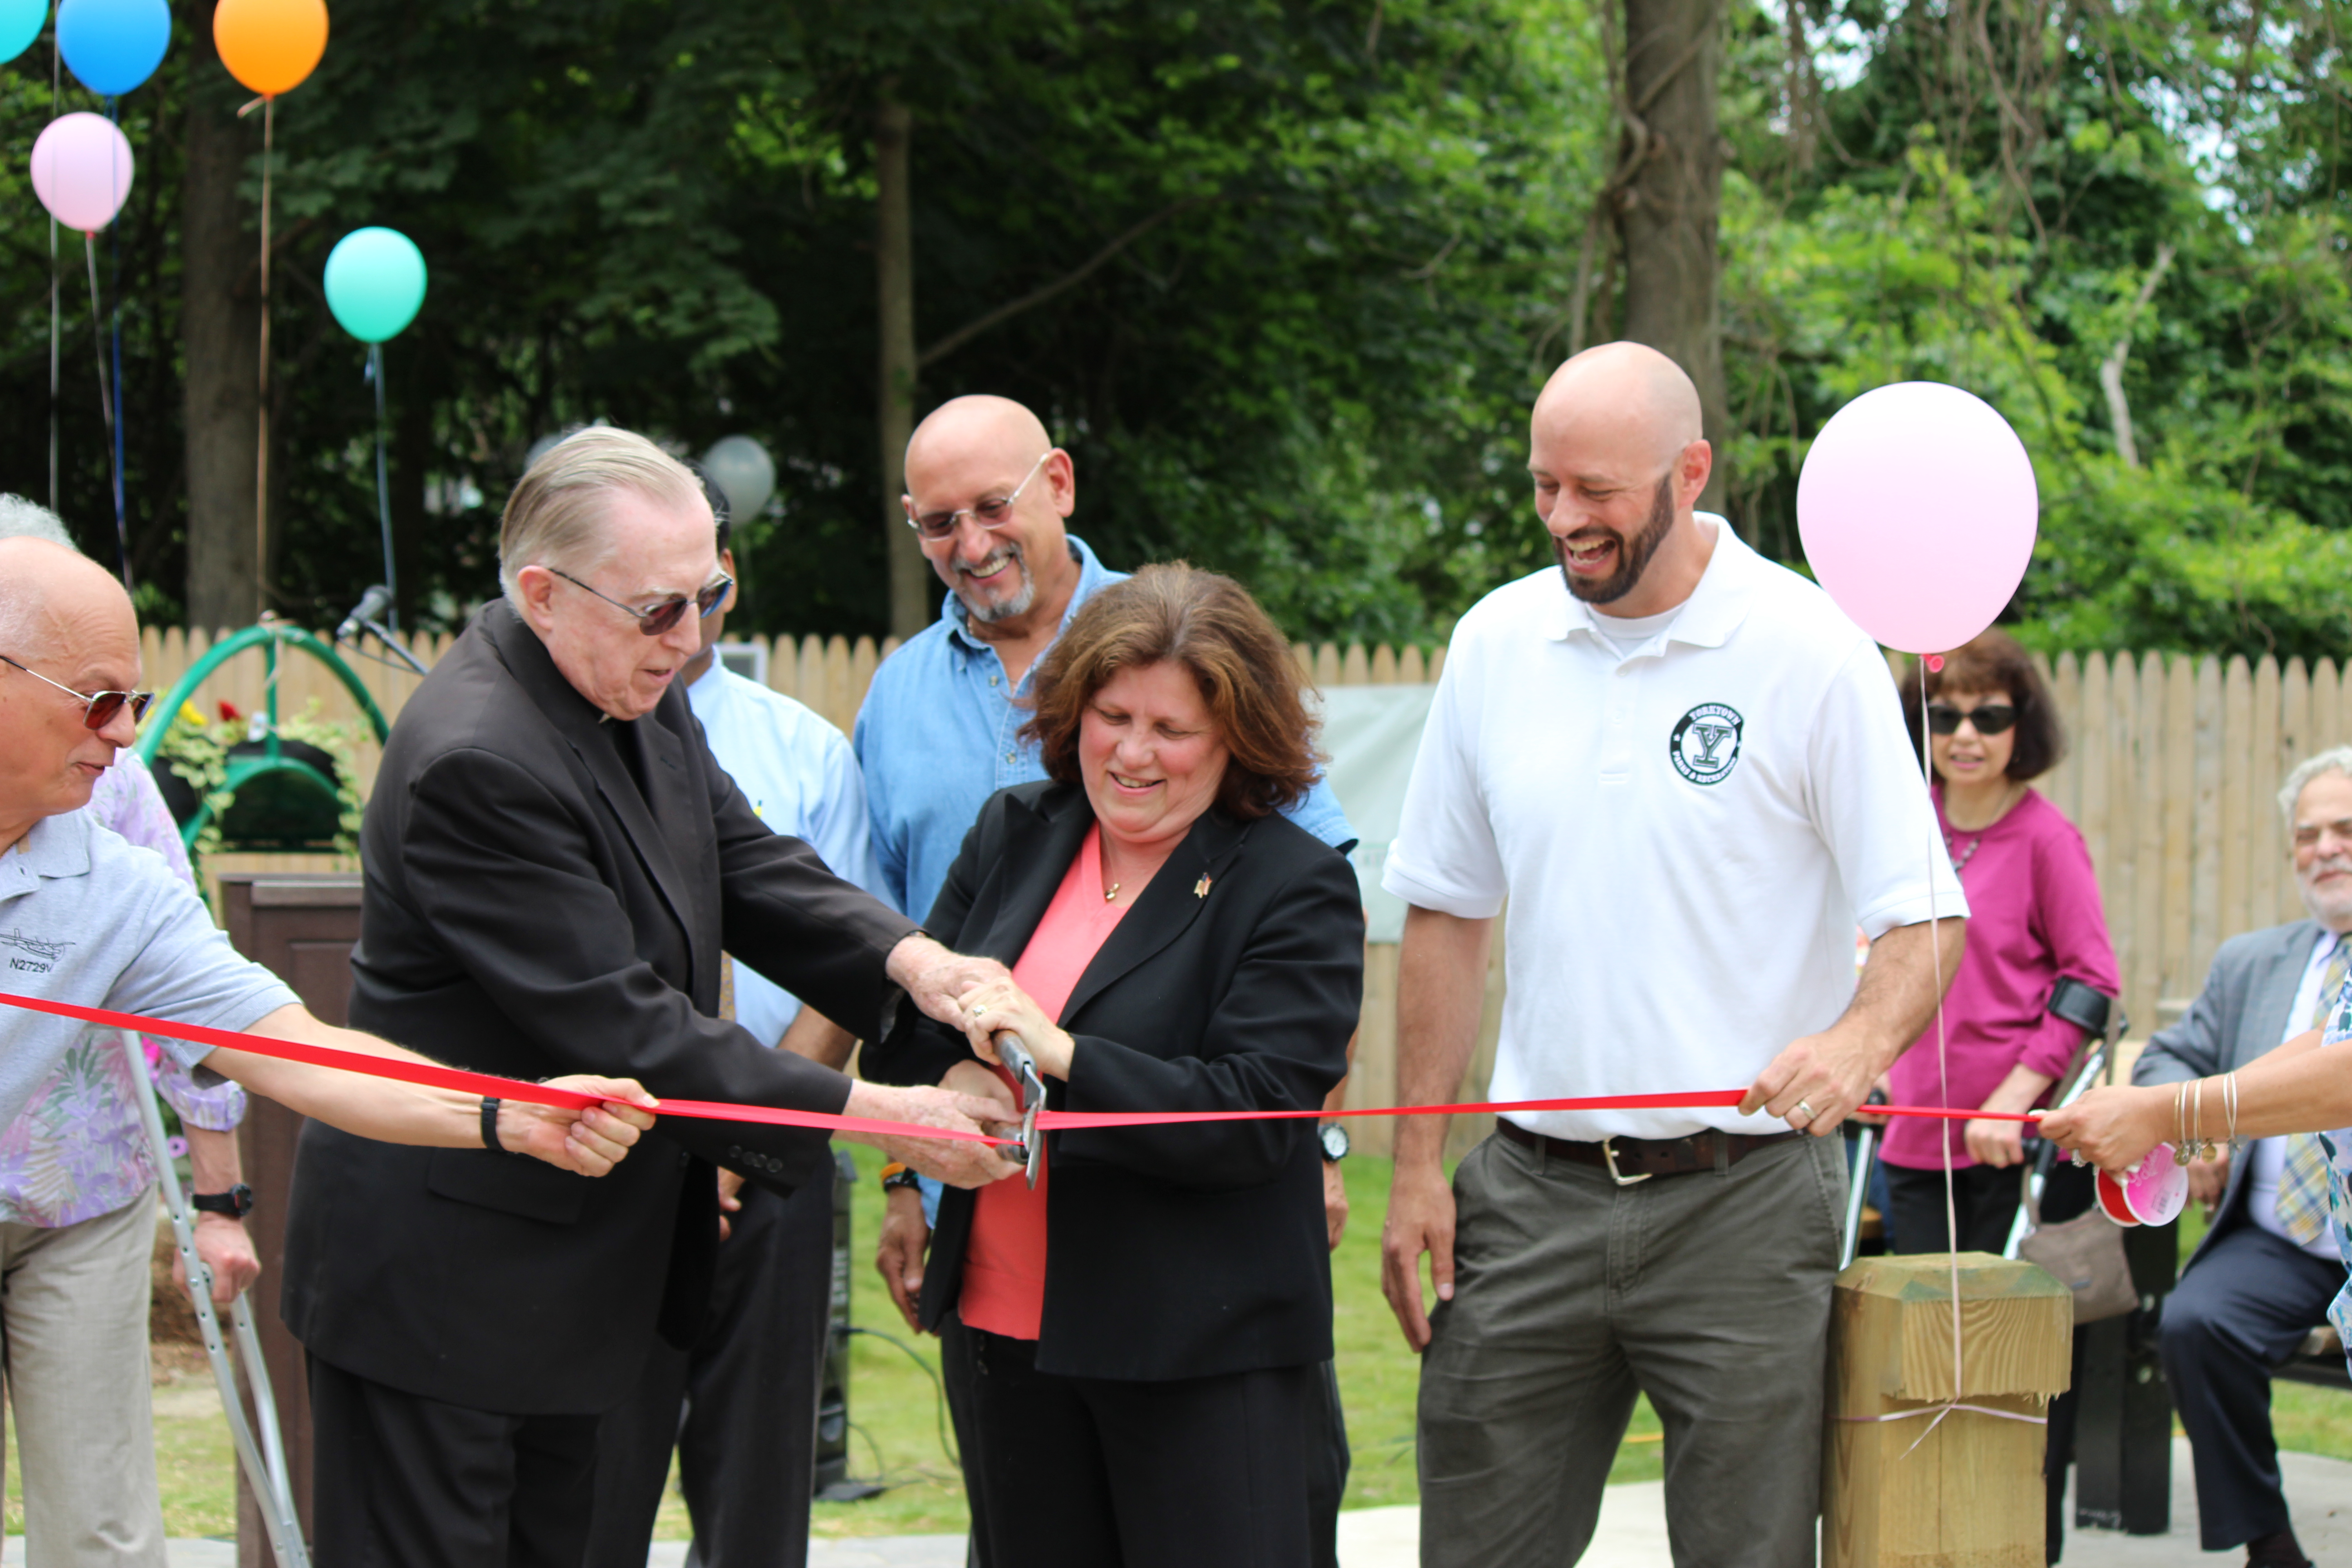
[[[2319,752],[2279,790],[2310,919],[2223,943],[2187,1018],[2147,1041],[2133,1084],[2230,1072],[2319,1025],[2352,961],[2352,748]],[[2209,1095],[2211,1098],[2211,1095]],[[2216,1110],[2206,1107],[2209,1114]],[[2220,1131],[2206,1121],[2209,1131]],[[2164,1302],[2164,1375],[2197,1458],[2206,1552],[2310,1568],[2279,1490],[2270,1371],[2326,1321],[2345,1262],[2326,1234],[2326,1157],[2310,1135],[2263,1138],[2192,1166],[2220,1194],[2213,1225]]]

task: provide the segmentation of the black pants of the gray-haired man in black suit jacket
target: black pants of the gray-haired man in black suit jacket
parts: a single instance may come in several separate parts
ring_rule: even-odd
[[[499,1415],[308,1368],[320,1568],[579,1568],[600,1418]]]

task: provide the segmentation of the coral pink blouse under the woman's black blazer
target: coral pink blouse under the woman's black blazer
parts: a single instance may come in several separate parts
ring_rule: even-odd
[[[1131,903],[1103,900],[1103,830],[1089,827],[1070,870],[1054,891],[1044,919],[1014,964],[1014,980],[1044,1011],[1061,1018],[1087,964],[1110,940]],[[997,1067],[1011,1084],[1011,1074]],[[1018,1084],[1014,1084],[1018,1093]],[[964,1286],[955,1312],[964,1324],[1002,1333],[1009,1340],[1035,1340],[1044,1319],[1044,1192],[1047,1168],[1040,1157],[1037,1185],[1018,1178],[981,1187],[971,1213],[971,1241],[964,1246]]]

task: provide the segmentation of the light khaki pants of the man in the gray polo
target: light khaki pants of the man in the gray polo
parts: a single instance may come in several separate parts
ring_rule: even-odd
[[[115,1213],[0,1225],[0,1371],[26,1568],[165,1568],[148,1403],[155,1190]]]

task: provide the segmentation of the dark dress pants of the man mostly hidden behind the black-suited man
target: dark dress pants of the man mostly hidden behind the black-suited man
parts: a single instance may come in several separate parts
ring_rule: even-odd
[[[656,1345],[597,1432],[586,1568],[644,1568],[661,1488],[694,1519],[694,1568],[809,1561],[816,1394],[833,1307],[833,1161],[793,1197],[743,1187],[691,1352]],[[327,1566],[322,1566],[327,1568]]]

